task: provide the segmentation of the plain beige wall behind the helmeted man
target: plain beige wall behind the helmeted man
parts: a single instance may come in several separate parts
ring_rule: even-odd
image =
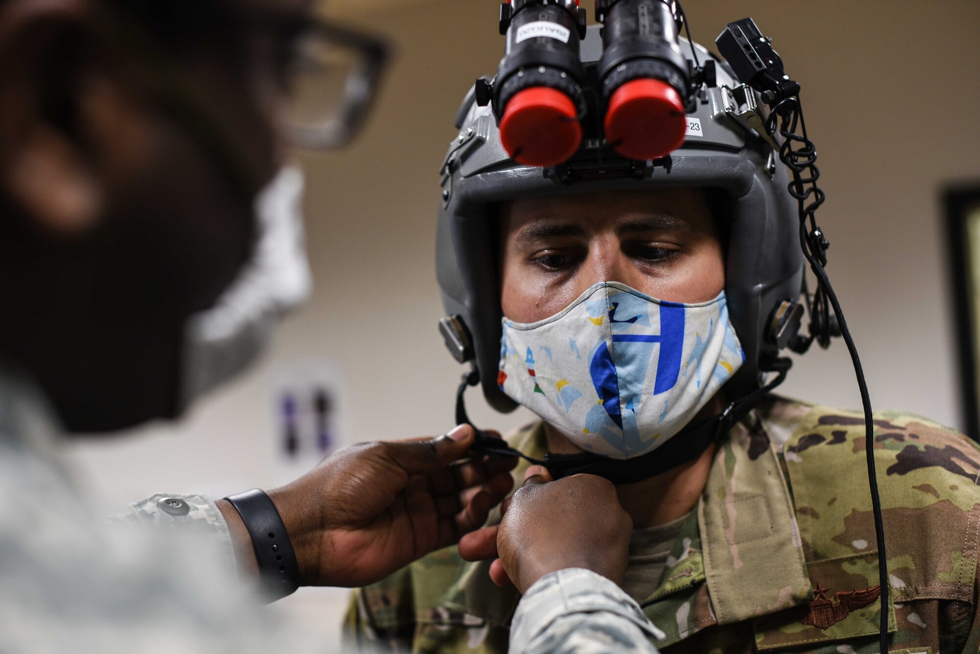
[[[685,4],[703,42],[727,21],[755,17],[803,83],[828,195],[821,221],[832,243],[829,272],[875,405],[957,425],[938,194],[950,180],[980,177],[980,4]],[[105,500],[100,508],[119,510],[153,491],[238,491],[286,475],[270,459],[270,390],[298,361],[337,367],[351,440],[436,434],[451,425],[460,370],[435,327],[436,169],[466,88],[492,72],[502,52],[497,4],[395,3],[366,15],[348,5],[338,13],[390,34],[398,58],[364,138],[341,153],[301,156],[316,296],[261,365],[181,423],[76,445],[81,473]],[[857,406],[844,345],[798,361],[784,392]],[[475,397],[471,403],[481,425],[505,428],[527,418],[497,416]]]

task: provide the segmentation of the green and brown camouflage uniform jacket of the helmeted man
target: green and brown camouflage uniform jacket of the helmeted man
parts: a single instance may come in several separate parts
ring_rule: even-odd
[[[980,450],[923,418],[875,417],[889,651],[980,651]],[[510,441],[544,453],[540,423]],[[877,652],[874,543],[862,416],[769,397],[719,445],[641,606],[664,654]],[[356,591],[347,637],[417,652],[506,651],[519,597],[487,569],[455,548],[435,552]]]

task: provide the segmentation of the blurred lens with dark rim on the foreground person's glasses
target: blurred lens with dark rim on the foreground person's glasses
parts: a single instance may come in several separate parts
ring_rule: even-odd
[[[364,124],[388,60],[379,38],[322,21],[305,21],[284,66],[286,134],[298,147],[347,144]]]

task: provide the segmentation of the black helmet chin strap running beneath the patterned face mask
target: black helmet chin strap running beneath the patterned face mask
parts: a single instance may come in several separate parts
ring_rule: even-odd
[[[689,425],[661,447],[629,459],[613,459],[592,452],[577,452],[575,454],[546,454],[544,459],[527,456],[511,447],[503,439],[490,436],[475,426],[476,442],[469,448],[474,455],[493,457],[517,456],[536,465],[543,465],[555,479],[571,475],[597,475],[613,482],[613,484],[635,484],[656,477],[671,468],[693,461],[701,456],[712,444],[719,442],[732,426],[754,409],[763,397],[783,383],[786,371],[792,361],[779,358],[774,361],[773,370],[776,376],[765,386],[748,396],[736,399],[725,407],[721,413],[698,423]],[[472,370],[463,376],[460,388],[456,392],[456,422],[471,425],[466,415],[464,394],[466,387],[479,383],[479,373]]]

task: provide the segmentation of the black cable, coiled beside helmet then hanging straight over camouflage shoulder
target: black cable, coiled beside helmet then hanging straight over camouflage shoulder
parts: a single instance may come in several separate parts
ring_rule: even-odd
[[[823,231],[816,224],[815,212],[823,204],[826,195],[816,185],[820,169],[816,167],[816,149],[807,136],[807,122],[803,116],[800,96],[785,98],[776,103],[766,119],[766,130],[774,135],[777,129],[782,136],[779,159],[790,169],[793,181],[789,192],[800,209],[800,246],[809,261],[809,267],[816,276],[816,289],[812,303],[807,299],[810,319],[813,321],[812,337],[822,348],[830,345],[834,332],[830,310],[836,316],[837,326],[844,343],[847,344],[855,374],[858,377],[858,391],[864,409],[864,454],[867,463],[868,485],[871,490],[871,511],[874,515],[874,534],[878,545],[878,584],[880,588],[881,623],[879,625],[879,644],[881,652],[888,651],[888,556],[885,552],[885,528],[881,518],[881,498],[878,495],[878,481],[874,466],[874,422],[871,415],[871,397],[864,381],[858,348],[851,337],[844,311],[837,301],[830,279],[824,266],[827,264],[826,251],[829,247]],[[797,127],[800,133],[797,133]]]

